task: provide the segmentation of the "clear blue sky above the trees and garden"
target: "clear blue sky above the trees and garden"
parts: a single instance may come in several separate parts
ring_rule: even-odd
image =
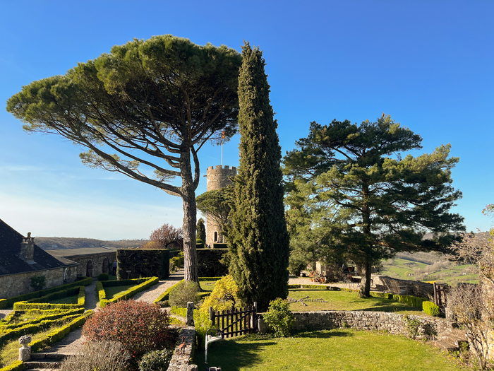
[[[0,33],[0,219],[43,237],[125,240],[181,226],[179,197],[80,161],[83,148],[27,134],[6,112],[22,86],[64,74],[114,45],[153,35],[241,52],[263,50],[282,154],[313,121],[377,121],[382,112],[423,137],[431,153],[450,143],[459,157],[452,208],[467,230],[488,230],[494,202],[494,1],[2,1]],[[489,144],[490,143],[490,144]],[[206,190],[218,146],[199,152]],[[239,136],[223,165],[239,164]]]

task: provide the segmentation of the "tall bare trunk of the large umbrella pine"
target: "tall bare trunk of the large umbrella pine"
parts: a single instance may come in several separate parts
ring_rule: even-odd
[[[180,171],[182,175],[183,200],[183,268],[185,281],[199,282],[198,258],[195,245],[195,189],[191,169],[191,153],[181,153]]]

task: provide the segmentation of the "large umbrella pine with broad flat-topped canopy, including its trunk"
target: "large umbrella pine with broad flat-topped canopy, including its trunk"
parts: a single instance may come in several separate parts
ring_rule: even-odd
[[[185,278],[197,281],[198,151],[236,131],[241,55],[172,35],[133,40],[65,75],[24,86],[7,110],[26,131],[64,136],[85,165],[121,172],[183,200]],[[181,185],[170,184],[174,177]]]

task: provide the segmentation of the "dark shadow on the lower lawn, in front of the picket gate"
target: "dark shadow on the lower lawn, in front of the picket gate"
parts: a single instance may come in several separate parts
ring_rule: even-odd
[[[275,341],[218,341],[207,348],[207,366],[222,367],[229,371],[239,371],[242,367],[261,365],[259,354]],[[194,363],[204,370],[204,351],[196,350]]]

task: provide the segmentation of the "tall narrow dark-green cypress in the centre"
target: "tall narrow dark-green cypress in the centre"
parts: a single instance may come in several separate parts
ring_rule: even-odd
[[[242,47],[239,76],[240,165],[231,213],[229,269],[244,302],[267,310],[288,294],[289,236],[284,220],[282,158],[263,52]]]

